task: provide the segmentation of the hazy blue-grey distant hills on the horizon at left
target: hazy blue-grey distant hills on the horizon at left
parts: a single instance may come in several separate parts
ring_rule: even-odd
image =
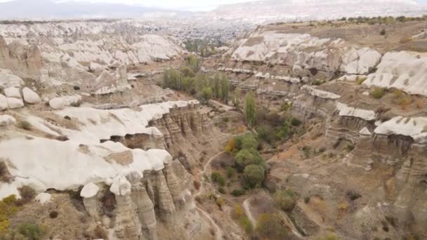
[[[75,1],[15,0],[0,3],[0,19],[46,18],[138,18],[163,11],[126,4],[96,4]]]

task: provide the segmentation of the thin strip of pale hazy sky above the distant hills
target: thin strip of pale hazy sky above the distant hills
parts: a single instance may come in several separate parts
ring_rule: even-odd
[[[0,0],[14,1],[14,0]],[[37,1],[37,0],[33,0]],[[185,11],[209,11],[221,4],[234,4],[254,0],[53,0],[53,1],[88,1],[88,2],[105,2],[105,3],[124,3],[140,4],[147,7],[168,8]],[[258,0],[259,1],[259,0]],[[262,0],[261,0],[262,1]],[[419,3],[427,4],[427,0],[415,0]]]

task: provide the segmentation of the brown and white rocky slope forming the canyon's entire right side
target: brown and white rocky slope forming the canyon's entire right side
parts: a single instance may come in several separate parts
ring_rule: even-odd
[[[394,27],[390,35],[407,31]],[[270,159],[277,185],[315,199],[291,213],[303,234],[332,227],[343,239],[425,236],[425,53],[403,43],[355,44],[349,28],[258,27],[237,39],[218,70],[256,91],[259,105],[291,103],[291,115],[306,123],[307,133]],[[374,98],[375,89],[382,95]],[[303,146],[315,155],[301,158]],[[346,199],[354,191],[362,200]],[[381,230],[390,219],[393,228]]]

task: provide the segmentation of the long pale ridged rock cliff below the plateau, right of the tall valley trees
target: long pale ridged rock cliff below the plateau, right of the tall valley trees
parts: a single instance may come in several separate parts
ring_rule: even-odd
[[[370,48],[348,48],[342,39],[320,39],[310,34],[257,29],[239,42],[231,58],[280,63],[293,67],[294,72],[315,68],[326,72],[341,70],[348,74],[367,74],[378,64],[381,54]]]

